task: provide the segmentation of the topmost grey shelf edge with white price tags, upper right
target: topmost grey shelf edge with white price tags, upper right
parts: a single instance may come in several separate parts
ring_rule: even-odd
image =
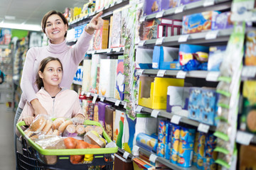
[[[146,18],[142,18],[142,20],[151,20],[154,18],[162,17],[170,17],[174,19],[181,19],[182,16],[189,15],[191,13],[201,13],[203,11],[222,11],[231,7],[232,1],[230,0],[204,0],[204,1],[196,1],[191,4],[186,4],[184,6],[178,6],[176,8],[170,8],[166,11],[161,11],[159,13],[153,13],[148,16],[144,16]]]

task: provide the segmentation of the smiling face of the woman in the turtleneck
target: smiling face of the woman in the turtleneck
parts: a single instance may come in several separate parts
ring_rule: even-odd
[[[68,31],[68,26],[63,23],[63,20],[57,14],[49,16],[46,21],[46,35],[53,44],[63,42],[64,35]]]

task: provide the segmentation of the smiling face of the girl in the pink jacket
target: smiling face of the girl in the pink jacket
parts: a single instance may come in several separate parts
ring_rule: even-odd
[[[54,60],[48,62],[43,72],[39,71],[38,74],[43,79],[43,86],[58,86],[63,77],[63,69],[60,62]]]

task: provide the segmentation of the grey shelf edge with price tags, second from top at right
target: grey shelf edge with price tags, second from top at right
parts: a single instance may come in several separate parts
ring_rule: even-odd
[[[220,44],[221,42],[228,42],[232,32],[233,29],[225,29],[217,31],[210,30],[203,33],[191,33],[187,35],[175,35],[171,37],[165,37],[164,39],[159,38],[141,41],[139,42],[138,47],[154,47],[154,45],[177,46],[181,43],[214,45],[214,43]]]

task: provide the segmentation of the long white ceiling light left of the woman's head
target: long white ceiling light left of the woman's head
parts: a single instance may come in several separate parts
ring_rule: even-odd
[[[41,31],[40,25],[32,25],[32,24],[17,24],[17,23],[0,23],[0,28],[11,28],[18,30],[35,30]]]

